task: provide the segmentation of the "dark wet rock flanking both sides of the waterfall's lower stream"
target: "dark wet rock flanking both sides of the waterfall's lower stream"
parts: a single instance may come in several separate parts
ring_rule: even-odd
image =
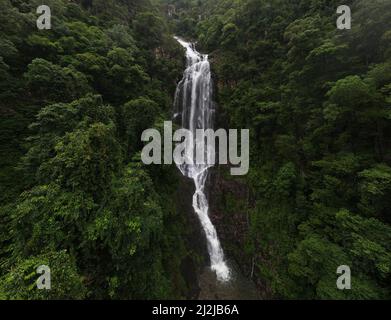
[[[243,185],[239,186],[232,181],[225,181],[219,176],[216,168],[210,172],[207,190],[210,202],[209,214],[221,235],[228,265],[232,271],[232,279],[228,283],[222,283],[211,271],[205,234],[190,201],[194,193],[194,183],[191,179],[181,177],[176,198],[177,208],[186,217],[188,226],[185,241],[189,255],[182,260],[181,264],[182,276],[188,288],[186,298],[260,299],[264,295],[260,294],[262,290],[249,277],[252,261],[251,258],[248,259],[243,250],[245,236],[248,232],[246,214],[241,210],[227,211],[229,201],[224,200],[224,195],[226,196],[227,193],[246,199],[247,190]]]

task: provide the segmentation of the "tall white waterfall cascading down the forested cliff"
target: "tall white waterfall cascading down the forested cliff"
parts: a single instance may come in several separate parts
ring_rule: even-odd
[[[174,120],[178,120],[182,128],[188,129],[196,137],[197,129],[212,129],[213,126],[214,108],[210,65],[208,56],[197,52],[191,43],[179,38],[175,39],[186,49],[187,66],[175,93]],[[184,176],[194,180],[193,208],[205,231],[211,269],[216,272],[218,280],[228,281],[230,270],[224,260],[216,229],[208,215],[209,206],[205,195],[205,183],[210,165],[196,163],[195,152],[193,152],[195,146],[204,143],[204,139],[202,141],[195,139],[187,150],[190,151],[189,156],[193,157],[194,164],[182,164],[178,165],[178,168]],[[204,150],[206,153],[211,152],[206,146]]]

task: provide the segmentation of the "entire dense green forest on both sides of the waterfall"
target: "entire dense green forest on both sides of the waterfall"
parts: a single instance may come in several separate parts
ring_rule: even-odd
[[[217,126],[250,129],[248,175],[218,166],[209,197],[259,296],[391,298],[390,0],[45,0],[38,30],[41,4],[0,0],[0,299],[191,295],[178,170],[140,161],[184,70],[174,34],[210,54]]]

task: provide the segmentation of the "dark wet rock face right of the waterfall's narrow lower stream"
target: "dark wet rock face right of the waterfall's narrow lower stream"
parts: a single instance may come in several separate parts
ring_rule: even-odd
[[[232,177],[224,178],[223,166],[210,170],[208,181],[209,212],[213,224],[220,235],[223,249],[226,252],[236,273],[236,285],[231,286],[231,295],[238,290],[247,290],[233,299],[272,299],[271,288],[263,279],[257,277],[255,263],[266,263],[259,255],[246,253],[246,241],[249,236],[250,221],[248,211],[254,205],[249,189],[245,183]],[[202,279],[201,279],[202,281]],[[242,288],[236,289],[233,288]],[[256,293],[255,293],[256,291]],[[202,295],[201,291],[201,295]],[[243,298],[246,297],[246,298]]]

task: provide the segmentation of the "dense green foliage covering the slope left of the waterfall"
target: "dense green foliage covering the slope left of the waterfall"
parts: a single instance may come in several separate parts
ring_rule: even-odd
[[[188,295],[177,181],[137,160],[141,131],[169,116],[183,51],[147,0],[48,0],[50,32],[39,4],[0,1],[0,298]]]

